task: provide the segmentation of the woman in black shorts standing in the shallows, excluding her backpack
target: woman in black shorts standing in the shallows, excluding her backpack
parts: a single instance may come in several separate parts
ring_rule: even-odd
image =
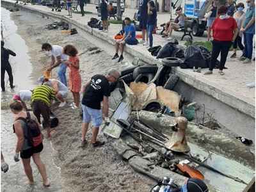
[[[33,147],[35,144],[34,141],[33,141],[33,144],[30,142],[28,138],[29,130],[26,123],[27,112],[22,111],[22,108],[23,108],[22,104],[19,100],[15,99],[10,103],[10,109],[12,113],[17,115],[17,117],[15,118],[16,120],[13,123],[13,131],[15,132],[18,138],[17,146],[15,149],[14,161],[16,162],[20,161],[19,159],[19,154],[20,154],[20,157],[22,159],[22,163],[24,166],[24,171],[28,177],[29,184],[32,186],[34,184],[32,168],[30,165],[30,159],[32,157],[34,163],[38,168],[38,171],[42,176],[43,185],[50,186],[50,182],[47,179],[44,163],[40,159],[40,152],[43,150],[44,145],[41,142],[36,147]],[[29,118],[35,121],[35,123],[38,126],[38,129],[41,132],[40,124],[38,123],[36,116],[33,114],[33,112],[28,112],[28,114],[30,115]],[[24,120],[22,120],[22,118],[25,119],[25,122]]]

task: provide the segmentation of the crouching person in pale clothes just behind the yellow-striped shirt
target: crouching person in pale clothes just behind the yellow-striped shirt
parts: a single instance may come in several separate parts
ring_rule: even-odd
[[[38,78],[39,85],[44,84],[45,82],[51,83],[51,87],[54,89],[56,99],[60,100],[59,107],[65,106],[67,102],[65,102],[65,98],[68,97],[68,88],[65,84],[61,83],[56,79],[47,79],[46,77],[42,76]]]

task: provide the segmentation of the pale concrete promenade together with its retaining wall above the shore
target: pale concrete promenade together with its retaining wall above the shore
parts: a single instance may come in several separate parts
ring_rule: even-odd
[[[2,6],[13,6],[14,1],[1,1]],[[87,22],[91,17],[97,18],[97,12],[93,4],[88,4],[86,11],[92,12],[81,17],[80,14],[73,13],[72,18],[65,16],[67,11],[51,12],[51,9],[40,5],[17,4],[21,11],[35,13],[36,15],[49,17],[56,21],[68,22],[70,28],[76,28],[79,35],[88,41],[104,49],[109,54],[114,54],[114,36],[122,26],[120,24],[111,24],[108,33],[100,33],[98,29],[87,26]],[[125,9],[123,17],[133,17],[136,10]],[[99,18],[98,18],[99,19]],[[159,13],[157,16],[159,24],[170,19],[169,14]],[[138,32],[140,33],[140,32]],[[179,40],[179,44],[183,45],[186,41],[180,41],[180,32],[173,32],[173,37]],[[193,37],[195,41],[205,41],[204,37]],[[160,35],[154,35],[154,45],[164,45],[167,41]],[[255,89],[246,88],[247,83],[255,81],[255,65],[240,63],[236,59],[230,59],[228,54],[225,76],[219,76],[218,70],[214,70],[211,76],[204,76],[207,68],[202,73],[192,72],[191,69],[181,69],[173,67],[173,73],[180,77],[180,81],[175,86],[175,91],[181,93],[189,100],[196,101],[199,105],[204,104],[206,113],[212,113],[212,118],[218,120],[222,125],[235,132],[239,136],[250,138],[255,141]],[[127,45],[125,46],[125,59],[138,57],[141,61],[148,64],[161,65],[161,60],[157,60],[150,55],[143,45]]]

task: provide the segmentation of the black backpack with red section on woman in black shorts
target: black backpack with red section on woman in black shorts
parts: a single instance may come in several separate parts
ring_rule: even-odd
[[[35,120],[30,118],[30,113],[29,111],[26,112],[27,117],[19,117],[17,120],[22,120],[25,122],[26,127],[27,127],[27,135],[24,135],[24,138],[28,140],[28,146],[29,147],[36,147],[43,141],[43,137],[41,134],[41,130],[39,129],[38,125],[36,124]],[[13,131],[15,132],[14,125],[13,125]]]

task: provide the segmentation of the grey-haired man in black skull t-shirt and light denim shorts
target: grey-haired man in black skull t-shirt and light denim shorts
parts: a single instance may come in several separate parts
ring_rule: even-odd
[[[108,117],[108,97],[110,96],[109,82],[115,82],[119,78],[120,73],[116,69],[109,70],[106,76],[95,75],[88,80],[83,86],[83,126],[81,147],[86,145],[85,139],[88,131],[89,123],[93,122],[92,144],[93,147],[104,145],[104,141],[97,141],[99,127],[102,124],[102,112],[100,110],[100,102],[103,100],[103,109],[105,122],[109,123]]]

